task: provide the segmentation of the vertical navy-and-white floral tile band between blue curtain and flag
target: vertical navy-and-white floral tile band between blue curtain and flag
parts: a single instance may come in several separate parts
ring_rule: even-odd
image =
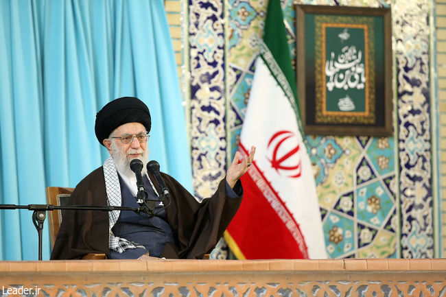
[[[189,0],[188,104],[193,187],[199,199],[209,197],[226,173],[223,19],[223,1]]]

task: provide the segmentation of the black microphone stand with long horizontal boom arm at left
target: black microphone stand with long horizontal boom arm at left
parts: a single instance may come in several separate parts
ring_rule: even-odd
[[[76,211],[134,211],[135,213],[147,213],[150,215],[152,211],[146,206],[139,207],[126,207],[126,206],[95,206],[95,205],[71,205],[71,206],[59,206],[54,204],[28,204],[28,205],[16,205],[16,204],[0,204],[0,209],[27,209],[33,211],[32,222],[36,227],[38,233],[38,260],[42,261],[42,233],[43,223],[47,217],[47,211],[55,210],[76,210]],[[153,213],[152,213],[153,215]]]

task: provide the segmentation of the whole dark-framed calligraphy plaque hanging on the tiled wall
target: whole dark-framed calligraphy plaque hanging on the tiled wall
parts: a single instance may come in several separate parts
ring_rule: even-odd
[[[390,8],[296,5],[305,134],[392,135]]]

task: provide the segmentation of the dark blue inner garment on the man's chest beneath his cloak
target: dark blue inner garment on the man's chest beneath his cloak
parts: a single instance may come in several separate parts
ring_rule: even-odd
[[[119,182],[121,184],[121,205],[138,207],[136,198],[134,198],[126,183],[120,177]],[[146,176],[143,176],[143,182],[145,198],[159,200]],[[119,213],[119,218],[112,228],[113,234],[128,241],[139,243],[145,248],[129,248],[121,253],[110,250],[112,259],[138,259],[147,252],[150,252],[152,257],[161,257],[165,243],[175,243],[174,233],[169,223],[167,223],[163,204],[160,205],[160,202],[156,202],[154,213],[153,217],[144,213],[137,214],[133,211],[121,211]]]

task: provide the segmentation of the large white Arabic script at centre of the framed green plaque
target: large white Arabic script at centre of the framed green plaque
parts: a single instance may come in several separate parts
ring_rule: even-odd
[[[342,47],[338,56],[331,51],[329,60],[325,62],[328,91],[331,92],[334,88],[346,91],[349,88],[364,89],[366,73],[361,60],[362,51],[357,51],[354,45]]]

